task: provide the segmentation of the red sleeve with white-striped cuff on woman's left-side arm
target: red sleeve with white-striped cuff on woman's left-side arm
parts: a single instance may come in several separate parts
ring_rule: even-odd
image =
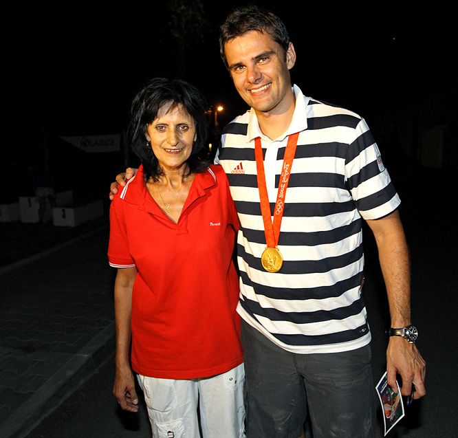
[[[129,252],[125,213],[119,196],[110,205],[110,237],[108,261],[111,267],[134,267],[135,261]]]

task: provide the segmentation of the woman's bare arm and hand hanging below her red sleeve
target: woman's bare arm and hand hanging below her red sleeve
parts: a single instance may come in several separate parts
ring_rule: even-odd
[[[131,348],[131,311],[132,289],[137,269],[124,267],[118,269],[114,286],[116,322],[116,374],[113,395],[124,410],[138,412],[138,396],[135,380],[129,362]]]

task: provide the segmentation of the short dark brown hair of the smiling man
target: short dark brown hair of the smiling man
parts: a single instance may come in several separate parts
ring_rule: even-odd
[[[250,30],[270,35],[276,43],[283,47],[286,56],[290,36],[283,21],[274,12],[261,8],[261,6],[241,6],[232,10],[219,28],[219,54],[226,68],[228,61],[224,54],[224,44]]]

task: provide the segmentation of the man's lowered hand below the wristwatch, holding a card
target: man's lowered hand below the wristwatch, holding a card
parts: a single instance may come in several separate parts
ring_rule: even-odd
[[[415,385],[414,399],[426,395],[424,381],[426,362],[415,347],[400,336],[391,336],[386,350],[386,377],[391,388],[396,388],[396,374],[402,377],[401,394],[408,396]]]

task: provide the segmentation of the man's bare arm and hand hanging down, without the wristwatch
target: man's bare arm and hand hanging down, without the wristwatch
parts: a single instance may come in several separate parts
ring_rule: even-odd
[[[399,212],[395,210],[381,219],[368,220],[367,224],[377,243],[388,295],[391,327],[411,325],[411,265]],[[411,394],[412,384],[415,384],[415,399],[426,394],[426,362],[415,344],[400,336],[391,336],[389,339],[386,372],[388,384],[392,388],[396,387],[396,373],[401,375],[402,395]]]

